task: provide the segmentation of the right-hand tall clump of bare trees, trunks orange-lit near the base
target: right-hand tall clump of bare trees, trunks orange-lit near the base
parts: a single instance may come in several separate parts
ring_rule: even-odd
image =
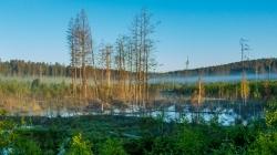
[[[148,101],[148,72],[151,70],[151,56],[154,41],[152,34],[155,25],[152,23],[152,14],[142,9],[134,18],[132,24],[132,44],[135,55],[135,99],[138,105],[145,107]]]

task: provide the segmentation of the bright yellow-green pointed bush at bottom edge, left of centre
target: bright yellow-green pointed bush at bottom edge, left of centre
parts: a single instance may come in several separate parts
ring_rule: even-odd
[[[72,137],[68,155],[92,155],[91,144],[89,141],[83,140],[82,134]]]

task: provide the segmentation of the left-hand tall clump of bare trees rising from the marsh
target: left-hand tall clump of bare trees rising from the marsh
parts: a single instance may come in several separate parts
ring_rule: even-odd
[[[71,51],[71,66],[72,71],[72,85],[73,93],[75,89],[76,72],[79,70],[79,78],[81,80],[82,97],[88,97],[88,73],[86,68],[92,62],[92,37],[91,28],[89,24],[88,17],[84,10],[75,17],[75,19],[70,21],[70,27],[68,31],[68,41]]]

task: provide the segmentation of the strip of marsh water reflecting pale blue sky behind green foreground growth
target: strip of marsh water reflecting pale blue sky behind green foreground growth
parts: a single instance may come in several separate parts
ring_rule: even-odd
[[[248,102],[243,104],[240,101],[227,100],[206,100],[198,107],[192,105],[188,101],[184,103],[166,104],[160,106],[147,107],[147,110],[140,106],[129,106],[124,108],[112,107],[110,110],[101,111],[69,111],[63,108],[61,111],[47,111],[42,114],[48,117],[69,117],[75,115],[124,115],[124,116],[152,116],[163,118],[165,122],[171,121],[187,121],[193,122],[195,118],[203,122],[211,122],[217,118],[222,125],[234,125],[238,123],[247,124],[255,118],[264,117],[264,106],[260,102]]]

